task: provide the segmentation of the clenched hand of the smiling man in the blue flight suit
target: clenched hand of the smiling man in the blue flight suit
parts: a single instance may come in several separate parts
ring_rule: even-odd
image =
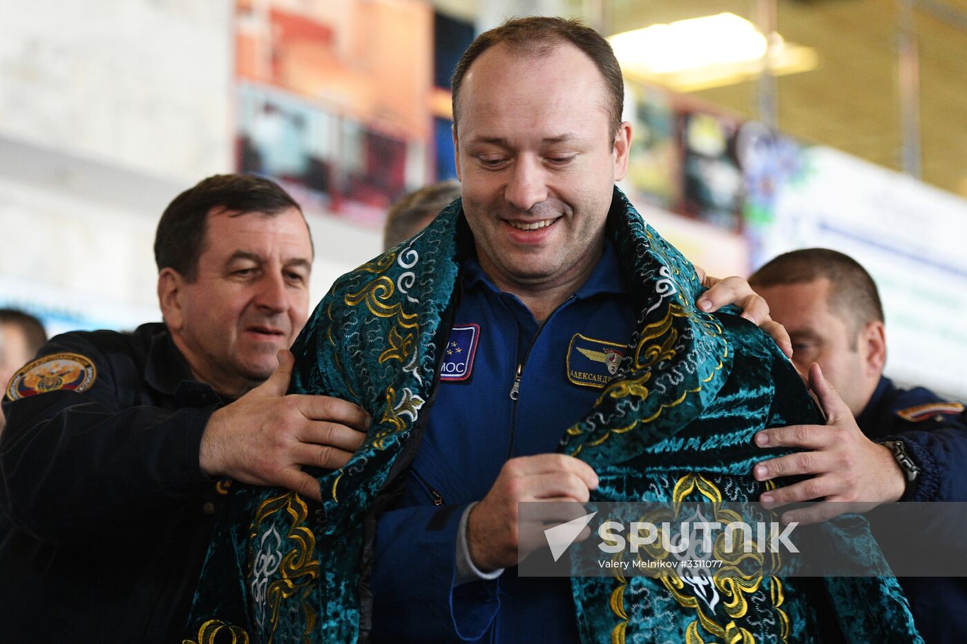
[[[512,458],[501,468],[497,480],[484,500],[474,506],[467,521],[467,546],[474,566],[495,571],[517,564],[518,552],[524,557],[547,542],[542,526],[518,532],[517,503],[558,501],[583,504],[589,491],[598,487],[598,475],[582,460],[565,454],[537,454]],[[543,516],[556,523],[569,521],[581,506],[556,506],[566,515]],[[577,514],[576,516],[579,516]],[[582,535],[579,539],[587,539]]]

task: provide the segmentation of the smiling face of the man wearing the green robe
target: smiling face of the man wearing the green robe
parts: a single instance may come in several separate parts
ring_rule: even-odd
[[[597,264],[630,143],[627,123],[611,136],[608,100],[571,44],[548,55],[497,44],[464,77],[454,127],[463,211],[502,289],[576,289]]]

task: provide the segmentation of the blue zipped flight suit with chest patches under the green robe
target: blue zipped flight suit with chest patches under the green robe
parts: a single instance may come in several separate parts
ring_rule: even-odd
[[[634,323],[617,257],[608,246],[543,325],[476,261],[464,262],[461,283],[420,452],[396,510],[377,529],[374,639],[577,642],[568,579],[518,577],[510,568],[454,586],[455,542],[460,516],[508,458],[555,452],[601,395],[610,356],[624,351]]]

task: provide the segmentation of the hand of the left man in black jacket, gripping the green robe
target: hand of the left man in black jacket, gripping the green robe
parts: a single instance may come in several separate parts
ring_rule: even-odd
[[[268,380],[212,414],[198,454],[205,474],[322,500],[319,483],[300,466],[342,467],[363,444],[371,419],[338,398],[286,395],[293,364],[291,353],[279,351]]]

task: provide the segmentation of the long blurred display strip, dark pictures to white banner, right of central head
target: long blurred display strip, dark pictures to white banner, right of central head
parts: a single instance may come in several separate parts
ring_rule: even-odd
[[[851,255],[880,289],[887,374],[967,398],[967,201],[686,97],[637,83],[628,95],[623,185],[672,244],[722,276],[792,249]]]

